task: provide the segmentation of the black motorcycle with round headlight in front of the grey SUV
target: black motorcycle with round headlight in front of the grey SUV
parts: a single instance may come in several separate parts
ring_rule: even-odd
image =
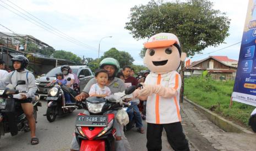
[[[70,78],[68,78],[68,81],[69,80]],[[46,115],[46,118],[49,122],[53,122],[55,121],[57,115],[72,113],[75,110],[74,107],[65,107],[67,105],[74,105],[75,103],[66,103],[64,91],[68,92],[72,102],[75,102],[75,96],[77,96],[77,93],[70,90],[67,85],[59,85],[56,83],[55,85],[50,85],[49,87],[52,88],[46,97],[47,111],[44,115]]]

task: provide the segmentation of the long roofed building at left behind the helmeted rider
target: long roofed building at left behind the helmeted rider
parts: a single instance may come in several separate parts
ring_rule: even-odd
[[[21,42],[22,40],[25,40],[24,45]],[[75,62],[69,60],[56,59],[54,57],[40,54],[35,49],[26,51],[28,40],[30,43],[35,44],[35,49],[37,50],[47,51],[49,49],[53,49],[50,45],[43,43],[41,40],[30,35],[0,32],[0,59],[6,62],[6,65],[10,69],[12,69],[11,59],[16,55],[24,55],[28,57],[28,69],[35,75],[45,74],[56,66],[76,65]]]

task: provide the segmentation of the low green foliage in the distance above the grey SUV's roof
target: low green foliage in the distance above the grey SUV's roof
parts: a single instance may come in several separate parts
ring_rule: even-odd
[[[53,54],[53,57],[58,59],[66,59],[75,63],[81,63],[82,60],[79,56],[64,50],[56,50]]]

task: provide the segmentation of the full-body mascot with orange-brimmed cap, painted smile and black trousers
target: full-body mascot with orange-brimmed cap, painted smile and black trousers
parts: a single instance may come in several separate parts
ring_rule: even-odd
[[[181,77],[176,71],[184,61],[186,54],[181,52],[181,45],[175,34],[159,33],[149,38],[144,44],[147,48],[144,63],[150,69],[143,89],[135,90],[133,95],[140,100],[147,100],[146,122],[148,150],[162,149],[162,130],[174,150],[189,150],[188,141],[182,131],[179,113],[179,90]]]

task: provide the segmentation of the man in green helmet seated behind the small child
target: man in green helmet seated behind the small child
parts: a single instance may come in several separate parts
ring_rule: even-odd
[[[108,73],[108,82],[106,86],[110,88],[111,93],[114,94],[116,92],[123,92],[126,89],[126,86],[124,85],[123,80],[116,78],[116,73],[119,71],[119,63],[116,59],[113,59],[111,57],[107,57],[104,60],[100,62],[100,68],[105,69]],[[77,101],[85,100],[85,98],[89,97],[89,91],[91,88],[91,85],[97,83],[95,78],[92,78],[85,86],[84,90],[81,92],[80,95],[76,96]],[[113,112],[115,113],[115,112]],[[127,141],[126,136],[124,136],[123,132],[123,126],[117,123],[117,120],[115,120],[114,128],[116,129],[116,142],[115,142],[115,148],[117,151],[129,151],[131,150],[130,145]],[[73,137],[73,141],[71,144],[70,150],[79,150],[79,144],[77,143],[77,140],[75,137]]]

